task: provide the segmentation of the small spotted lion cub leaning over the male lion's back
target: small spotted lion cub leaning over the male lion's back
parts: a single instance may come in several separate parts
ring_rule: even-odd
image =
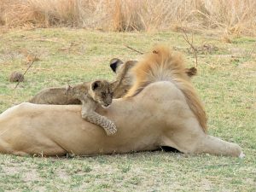
[[[66,94],[76,97],[82,102],[81,113],[83,119],[100,125],[108,136],[113,135],[117,131],[116,126],[110,119],[95,112],[99,105],[102,105],[102,108],[108,108],[112,102],[113,90],[108,81],[96,80],[73,87],[68,85]]]

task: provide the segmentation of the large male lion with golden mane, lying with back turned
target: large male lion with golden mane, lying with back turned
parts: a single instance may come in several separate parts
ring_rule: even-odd
[[[81,118],[79,105],[21,103],[0,115],[0,152],[112,154],[170,146],[183,153],[242,156],[235,143],[207,135],[206,114],[181,56],[160,46],[133,68],[134,85],[110,108],[97,108],[119,131],[108,137]]]

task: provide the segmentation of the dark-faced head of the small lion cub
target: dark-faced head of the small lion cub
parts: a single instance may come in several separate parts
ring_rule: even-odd
[[[106,80],[96,80],[90,84],[90,97],[103,108],[108,108],[113,99],[113,88]]]

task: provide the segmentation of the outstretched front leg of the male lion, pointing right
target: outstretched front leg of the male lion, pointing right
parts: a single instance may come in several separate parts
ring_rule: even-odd
[[[163,138],[163,144],[177,148],[188,154],[216,154],[225,156],[243,157],[241,147],[236,143],[225,142],[218,137],[205,133],[196,119],[186,119],[183,125],[176,125],[175,130],[168,132]]]

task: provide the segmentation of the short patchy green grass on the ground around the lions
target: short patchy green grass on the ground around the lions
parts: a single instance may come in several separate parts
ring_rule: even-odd
[[[0,33],[0,112],[44,87],[114,79],[110,59],[141,58],[124,44],[147,52],[160,43],[183,52],[194,66],[192,51],[177,32],[55,28]],[[225,44],[198,34],[194,45],[199,74],[193,82],[207,108],[209,134],[238,143],[245,159],[164,151],[61,158],[0,154],[0,191],[255,191],[256,40],[241,37]],[[40,61],[14,90],[9,74],[24,72],[28,55]]]

